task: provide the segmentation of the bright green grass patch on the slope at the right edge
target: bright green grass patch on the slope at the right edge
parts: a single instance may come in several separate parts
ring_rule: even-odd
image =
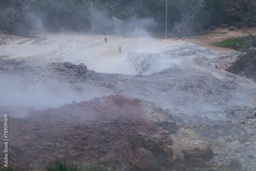
[[[235,49],[242,52],[246,52],[247,49],[252,47],[254,44],[255,40],[252,39],[252,37],[239,37],[211,43],[212,46]]]

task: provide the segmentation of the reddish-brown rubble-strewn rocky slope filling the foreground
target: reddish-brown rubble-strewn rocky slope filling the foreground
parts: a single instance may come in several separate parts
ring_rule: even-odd
[[[83,169],[97,165],[131,170],[132,159],[139,168],[145,167],[138,170],[254,170],[255,111],[255,106],[237,106],[225,111],[227,119],[213,120],[177,115],[121,95],[73,101],[56,109],[30,111],[25,118],[9,116],[9,164],[18,170],[45,170],[59,158]],[[129,158],[131,149],[138,147],[150,149],[157,160]],[[210,149],[189,153],[196,147]],[[158,165],[151,168],[152,163]]]

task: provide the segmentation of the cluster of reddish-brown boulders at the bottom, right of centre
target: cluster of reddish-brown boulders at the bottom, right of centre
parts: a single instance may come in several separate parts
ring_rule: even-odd
[[[162,170],[176,169],[184,170],[191,167],[205,168],[205,159],[214,157],[210,147],[206,149],[194,148],[192,150],[182,150],[184,159],[179,156],[173,159],[173,149],[163,149],[158,143],[149,137],[129,135],[129,146],[131,152],[126,156],[126,170]]]

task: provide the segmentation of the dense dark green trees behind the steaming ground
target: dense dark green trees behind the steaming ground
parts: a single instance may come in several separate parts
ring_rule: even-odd
[[[92,0],[94,31],[165,32],[166,0]],[[90,0],[1,0],[0,29],[92,31]],[[167,0],[168,33],[220,24],[256,26],[255,0]]]

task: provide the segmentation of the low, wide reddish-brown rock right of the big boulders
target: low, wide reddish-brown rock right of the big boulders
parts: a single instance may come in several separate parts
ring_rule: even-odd
[[[214,157],[214,152],[212,152],[211,147],[205,149],[194,148],[191,150],[183,149],[181,151],[184,154],[184,159],[190,160],[191,158],[202,158],[202,159],[211,159]]]

